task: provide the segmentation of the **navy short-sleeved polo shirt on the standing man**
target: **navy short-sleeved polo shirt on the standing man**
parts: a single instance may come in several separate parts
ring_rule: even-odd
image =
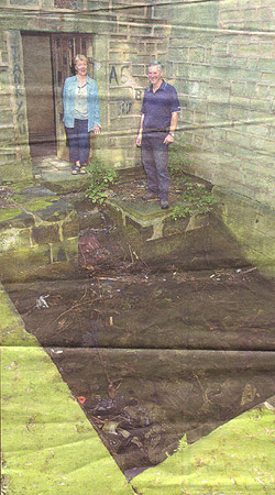
[[[179,112],[179,101],[174,86],[162,81],[153,92],[153,85],[144,92],[141,113],[144,113],[143,129],[167,131],[173,112]]]

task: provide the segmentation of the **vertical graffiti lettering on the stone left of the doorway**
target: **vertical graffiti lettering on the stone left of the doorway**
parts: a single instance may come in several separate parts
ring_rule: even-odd
[[[18,130],[20,135],[26,133],[26,109],[25,98],[22,91],[23,86],[23,61],[21,56],[20,45],[18,43],[11,43],[11,59],[12,59],[12,80],[14,85],[15,94],[15,117],[18,122]]]

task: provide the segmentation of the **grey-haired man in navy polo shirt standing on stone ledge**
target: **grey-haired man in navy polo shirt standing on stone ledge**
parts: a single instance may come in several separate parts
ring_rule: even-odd
[[[160,198],[161,208],[167,209],[169,174],[168,145],[174,135],[180,111],[176,89],[163,79],[163,66],[152,62],[148,66],[151,86],[145,90],[136,145],[147,175],[148,191],[144,200]]]

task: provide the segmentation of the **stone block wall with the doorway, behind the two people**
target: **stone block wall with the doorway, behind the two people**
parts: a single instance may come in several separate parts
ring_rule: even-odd
[[[2,85],[7,119],[0,156],[1,177],[31,178],[29,125],[21,33],[89,33],[94,40],[94,77],[98,82],[102,134],[94,140],[95,153],[109,165],[128,168],[140,164],[135,146],[146,65],[165,61],[169,28],[151,2],[91,2],[84,0],[13,0],[0,14],[2,28]],[[41,9],[46,9],[42,11]],[[8,13],[8,18],[4,15]],[[35,47],[34,47],[35,52]],[[6,57],[6,58],[4,58]],[[8,111],[9,110],[9,111]],[[7,144],[8,141],[8,144]],[[14,165],[19,165],[19,175]]]

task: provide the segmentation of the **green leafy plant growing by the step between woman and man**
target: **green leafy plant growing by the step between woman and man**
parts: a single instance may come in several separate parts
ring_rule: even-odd
[[[85,196],[91,200],[91,202],[98,202],[102,205],[107,198],[106,190],[114,183],[117,172],[110,167],[103,165],[99,158],[88,165],[87,172],[89,174],[90,184]]]

